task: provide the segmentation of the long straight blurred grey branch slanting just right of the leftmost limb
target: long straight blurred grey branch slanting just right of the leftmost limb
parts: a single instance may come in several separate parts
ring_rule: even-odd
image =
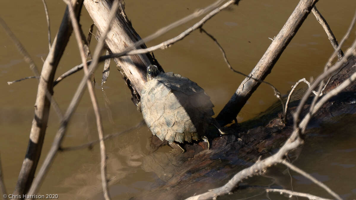
[[[28,195],[33,195],[37,192],[38,187],[42,183],[45,174],[47,173],[50,165],[53,162],[54,156],[56,156],[56,154],[57,154],[57,151],[62,143],[64,134],[67,130],[67,125],[68,125],[69,119],[72,116],[75,108],[77,107],[77,105],[79,103],[79,99],[84,94],[84,89],[85,89],[85,86],[87,85],[86,83],[87,83],[87,80],[89,79],[90,74],[97,67],[100,52],[101,52],[101,49],[103,49],[103,46],[105,43],[105,38],[108,35],[108,32],[110,30],[110,24],[111,24],[112,19],[115,17],[115,13],[116,13],[116,10],[115,11],[112,10],[110,13],[107,28],[101,35],[100,40],[95,47],[95,51],[94,51],[94,55],[93,55],[93,62],[90,63],[88,73],[85,73],[85,75],[83,76],[82,80],[79,83],[77,91],[75,92],[72,100],[70,101],[68,109],[67,109],[66,113],[64,114],[61,125],[56,133],[55,138],[54,138],[51,149],[49,150],[45,160],[43,161],[41,169],[38,171],[36,178],[33,180],[31,188],[27,193]]]

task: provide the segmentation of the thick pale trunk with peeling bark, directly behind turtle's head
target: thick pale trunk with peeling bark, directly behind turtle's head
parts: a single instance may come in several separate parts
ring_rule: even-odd
[[[102,0],[99,2],[84,0],[84,6],[93,19],[98,31],[103,32],[108,24],[112,0]],[[131,22],[125,14],[124,7],[121,5],[121,8],[117,11],[116,19],[111,23],[111,30],[105,40],[106,45],[111,52],[118,53],[139,40],[141,40],[141,37],[132,28]],[[145,44],[142,44],[137,48],[147,47]],[[127,79],[129,79],[126,83],[132,89],[133,96],[135,96],[135,93],[140,95],[143,84],[147,81],[146,69],[150,64],[155,63],[152,56],[149,53],[138,54],[114,58],[114,61],[120,66]]]

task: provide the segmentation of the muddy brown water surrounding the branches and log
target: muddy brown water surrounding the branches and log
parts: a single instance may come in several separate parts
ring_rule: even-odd
[[[145,37],[211,2],[213,1],[126,1],[126,12],[136,31],[141,37]],[[204,25],[204,28],[224,47],[231,65],[241,72],[249,73],[271,43],[268,38],[277,35],[297,3],[297,0],[241,1],[239,6],[232,6],[231,9],[215,16]],[[53,41],[65,6],[62,1],[47,1],[47,4]],[[317,6],[340,41],[354,14],[355,1],[324,0],[319,1]],[[12,1],[3,1],[0,11],[1,17],[26,47],[36,64],[41,66],[41,57],[45,58],[48,53],[47,25],[42,2],[21,1],[14,4]],[[92,22],[85,9],[80,22],[87,32]],[[175,28],[166,35],[148,42],[147,46],[171,38],[193,23],[194,21]],[[355,39],[354,33],[346,42],[345,48],[349,47]],[[8,193],[11,193],[28,143],[37,80],[6,84],[7,81],[33,74],[3,30],[0,31],[0,38],[2,80],[0,153],[5,184]],[[91,45],[91,49],[94,45],[95,42]],[[266,80],[286,94],[290,86],[300,78],[316,77],[322,71],[332,51],[325,32],[315,17],[309,15]],[[155,56],[166,72],[182,74],[204,88],[215,105],[215,114],[218,114],[244,79],[226,67],[216,45],[198,31],[171,48],[156,51]],[[78,47],[72,36],[59,63],[56,77],[79,63]],[[82,74],[83,72],[79,72],[72,75],[54,89],[54,97],[63,111],[67,108]],[[100,70],[95,72],[95,78],[99,83]],[[106,94],[101,91],[99,84],[95,88],[104,120],[105,134],[125,130],[142,120],[142,115],[132,104],[129,89],[126,88],[113,62],[109,79],[104,86]],[[107,102],[105,102],[105,95]],[[242,109],[238,120],[250,119],[267,109],[274,101],[276,99],[269,86],[261,85]],[[354,116],[350,116],[351,119],[352,117]],[[334,125],[323,127],[325,131],[335,131],[335,135],[341,136],[328,138],[320,136],[312,142],[307,141],[299,160],[295,162],[300,168],[328,184],[345,199],[356,198],[356,132],[355,124],[352,122],[349,120],[346,127],[340,125],[344,128],[336,130],[333,129]],[[57,128],[58,117],[51,110],[40,164],[51,146]],[[151,132],[144,126],[106,142],[110,194],[113,199],[129,199],[158,184],[154,182],[157,178],[154,173],[146,172],[141,168],[142,158],[149,151],[147,146],[149,146],[150,136]],[[78,145],[97,138],[93,109],[89,95],[86,93],[73,115],[63,146]],[[58,153],[39,193],[58,194],[59,199],[103,199],[98,147],[95,145],[91,151],[82,149]],[[159,151],[168,152],[169,148],[163,147]],[[295,191],[330,198],[323,190],[300,175],[292,173],[292,177]],[[266,177],[255,177],[252,180],[256,185],[269,185],[272,182]],[[257,196],[251,199],[267,198],[265,194],[258,195],[253,192],[237,193],[231,198],[240,199],[253,195]],[[286,199],[279,194],[271,194],[269,198]]]

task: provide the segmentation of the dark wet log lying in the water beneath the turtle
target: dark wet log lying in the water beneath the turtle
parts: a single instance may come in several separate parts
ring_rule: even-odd
[[[335,88],[354,73],[355,63],[355,58],[350,59],[341,72],[330,80],[325,92]],[[255,119],[225,128],[229,135],[215,137],[211,141],[210,149],[206,149],[204,142],[199,142],[185,144],[186,152],[179,156],[162,152],[153,152],[146,156],[143,158],[142,168],[157,174],[156,183],[153,184],[156,187],[132,199],[184,199],[224,185],[235,173],[258,159],[270,156],[283,145],[293,131],[291,113],[297,108],[304,91],[305,89],[301,89],[293,96],[286,125],[280,117],[280,102],[276,102]],[[356,113],[355,91],[356,85],[353,84],[328,101],[313,117],[309,127],[349,120],[345,114]],[[304,107],[303,115],[309,111],[311,101],[312,97]],[[318,134],[320,131],[321,128],[313,128],[309,133]],[[313,140],[313,137],[308,135],[308,130],[306,137],[308,142]],[[152,149],[155,150],[159,142],[156,137],[152,137],[152,141]],[[294,154],[297,154],[295,157],[298,157],[298,151],[294,151]],[[264,176],[273,177],[283,188],[289,189],[289,184],[283,184],[288,180],[284,180],[273,170],[267,170]]]

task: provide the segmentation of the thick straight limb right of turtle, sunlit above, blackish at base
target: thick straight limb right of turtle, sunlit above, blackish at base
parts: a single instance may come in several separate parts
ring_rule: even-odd
[[[281,31],[279,31],[265,54],[252,70],[251,74],[253,78],[264,80],[267,77],[317,1],[318,0],[299,1],[299,4],[295,7]],[[246,101],[260,84],[260,82],[251,78],[245,78],[245,80],[242,81],[229,102],[227,102],[223,110],[221,110],[216,117],[216,120],[221,126],[225,126],[236,118]]]

